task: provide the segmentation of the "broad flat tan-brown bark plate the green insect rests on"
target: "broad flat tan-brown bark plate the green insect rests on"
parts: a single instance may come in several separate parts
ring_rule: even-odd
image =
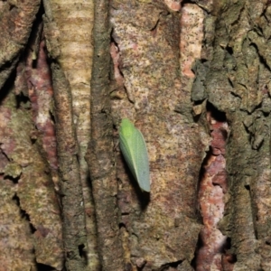
[[[194,257],[201,229],[197,184],[210,137],[193,122],[190,92],[181,89],[180,15],[162,2],[112,1],[111,23],[117,76],[112,114],[116,125],[119,117],[128,117],[142,131],[151,169],[151,192],[144,194],[117,152],[126,266],[182,268]]]

